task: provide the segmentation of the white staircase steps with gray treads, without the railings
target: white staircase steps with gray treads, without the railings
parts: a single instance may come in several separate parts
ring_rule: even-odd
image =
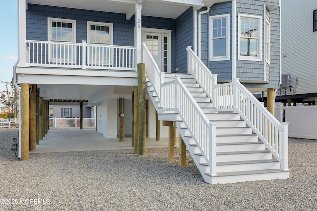
[[[189,74],[177,74],[199,107],[211,123],[216,123],[216,175],[210,174],[210,167],[196,145],[179,115],[173,111],[164,112],[152,85],[147,90],[159,114],[159,120],[176,121],[187,150],[202,174],[210,184],[234,183],[255,180],[289,178],[289,171],[280,170],[281,165],[252,129],[233,112],[217,112],[210,98]],[[165,74],[165,83],[173,81],[175,74]]]

